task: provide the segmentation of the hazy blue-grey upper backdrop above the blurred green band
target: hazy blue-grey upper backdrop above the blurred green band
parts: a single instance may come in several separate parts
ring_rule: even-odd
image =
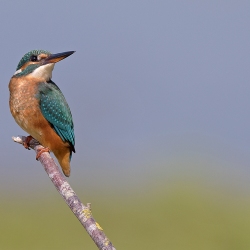
[[[71,182],[200,159],[250,176],[249,1],[2,1],[0,11],[0,182],[45,178],[11,141],[25,132],[8,82],[32,49],[76,50],[53,72],[75,123]]]

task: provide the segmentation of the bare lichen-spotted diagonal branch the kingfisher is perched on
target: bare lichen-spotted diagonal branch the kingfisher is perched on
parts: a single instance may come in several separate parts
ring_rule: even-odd
[[[12,137],[12,139],[20,144],[23,144],[26,137]],[[38,141],[32,139],[30,141],[30,148],[34,149],[36,153],[43,148]],[[111,241],[105,236],[103,229],[94,220],[91,213],[91,205],[87,203],[87,206],[83,205],[77,197],[74,190],[71,188],[65,177],[62,175],[59,167],[55,164],[53,158],[49,153],[43,153],[39,157],[39,161],[43,165],[46,173],[53,182],[57,191],[61,194],[71,211],[77,217],[77,219],[84,226],[92,240],[100,250],[115,250]]]

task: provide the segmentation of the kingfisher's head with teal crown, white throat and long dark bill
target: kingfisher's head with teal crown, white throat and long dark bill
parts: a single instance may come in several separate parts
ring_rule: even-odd
[[[51,54],[47,50],[31,50],[26,53],[17,65],[15,77],[31,75],[35,78],[49,80],[55,63],[70,56],[75,51]]]

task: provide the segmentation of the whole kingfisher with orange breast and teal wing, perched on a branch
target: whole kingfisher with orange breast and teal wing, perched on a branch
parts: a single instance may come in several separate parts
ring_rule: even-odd
[[[75,135],[69,105],[51,80],[55,63],[75,51],[52,54],[47,50],[26,53],[10,79],[9,106],[17,124],[28,134],[23,145],[29,149],[32,138],[44,146],[43,152],[52,151],[65,176],[70,176],[70,160],[75,153]]]

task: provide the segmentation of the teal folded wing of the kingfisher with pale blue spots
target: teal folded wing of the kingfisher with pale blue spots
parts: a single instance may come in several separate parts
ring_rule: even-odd
[[[52,81],[38,87],[40,109],[45,119],[52,125],[63,141],[67,141],[75,152],[75,135],[69,105],[59,87]]]

